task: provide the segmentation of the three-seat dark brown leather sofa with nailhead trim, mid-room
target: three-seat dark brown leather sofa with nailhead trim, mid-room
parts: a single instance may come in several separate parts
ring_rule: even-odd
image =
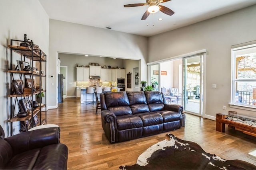
[[[110,143],[172,131],[184,126],[183,106],[166,104],[156,91],[100,95],[102,128]]]

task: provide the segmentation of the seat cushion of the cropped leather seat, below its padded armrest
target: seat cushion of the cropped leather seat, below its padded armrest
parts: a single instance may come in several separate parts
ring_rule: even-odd
[[[33,169],[40,149],[32,149],[16,154],[4,167],[5,169]]]

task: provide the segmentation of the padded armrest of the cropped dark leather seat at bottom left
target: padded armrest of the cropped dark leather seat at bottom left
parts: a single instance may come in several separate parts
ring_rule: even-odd
[[[60,143],[60,127],[49,127],[20,133],[5,139],[14,154]]]

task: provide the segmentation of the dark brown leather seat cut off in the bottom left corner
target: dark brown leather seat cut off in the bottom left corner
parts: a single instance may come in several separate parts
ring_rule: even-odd
[[[66,170],[68,147],[60,143],[60,127],[20,133],[4,139],[0,126],[0,169]]]

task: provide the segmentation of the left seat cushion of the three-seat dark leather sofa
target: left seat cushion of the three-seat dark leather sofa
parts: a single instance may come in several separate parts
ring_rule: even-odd
[[[116,122],[118,130],[138,128],[143,125],[140,117],[136,115],[116,116]]]

